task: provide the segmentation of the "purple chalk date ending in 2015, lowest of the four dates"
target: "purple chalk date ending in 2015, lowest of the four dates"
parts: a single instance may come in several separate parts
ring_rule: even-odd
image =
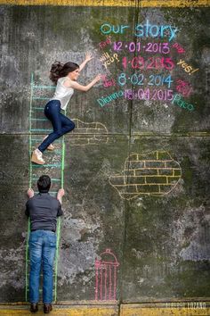
[[[163,89],[152,89],[149,87],[145,89],[125,89],[125,99],[128,100],[159,100],[159,101],[172,101],[173,100],[173,90],[163,90]]]

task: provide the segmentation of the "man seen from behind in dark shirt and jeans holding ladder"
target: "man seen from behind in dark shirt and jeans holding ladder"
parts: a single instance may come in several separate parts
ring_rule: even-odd
[[[57,217],[63,214],[61,198],[64,190],[58,191],[57,199],[49,195],[51,179],[43,175],[37,181],[39,193],[28,189],[29,200],[26,215],[30,218],[29,255],[29,299],[30,312],[38,311],[39,279],[43,267],[43,303],[44,313],[52,311],[53,261],[56,250]]]

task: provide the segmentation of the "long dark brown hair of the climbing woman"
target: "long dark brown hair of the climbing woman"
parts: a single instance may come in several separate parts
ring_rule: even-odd
[[[54,62],[52,63],[50,79],[52,82],[57,84],[58,79],[61,77],[66,77],[69,72],[76,71],[79,68],[79,65],[76,62]]]

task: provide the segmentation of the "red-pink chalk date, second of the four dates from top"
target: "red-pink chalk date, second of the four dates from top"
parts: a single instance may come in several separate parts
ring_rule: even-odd
[[[168,71],[172,71],[175,66],[170,57],[149,57],[148,59],[145,59],[144,57],[136,56],[133,57],[132,60],[128,60],[127,57],[123,57],[122,64],[125,69],[128,65],[131,65],[133,69],[166,69]]]

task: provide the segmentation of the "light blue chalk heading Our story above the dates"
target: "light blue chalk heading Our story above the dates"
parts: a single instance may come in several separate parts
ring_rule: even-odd
[[[101,25],[100,30],[104,35],[109,34],[125,34],[128,30],[131,30],[129,25],[113,25],[109,23],[104,23]],[[171,41],[176,37],[178,29],[172,25],[157,25],[149,23],[149,20],[146,20],[144,24],[137,24],[134,27],[133,35],[135,37],[168,37],[168,40]]]

